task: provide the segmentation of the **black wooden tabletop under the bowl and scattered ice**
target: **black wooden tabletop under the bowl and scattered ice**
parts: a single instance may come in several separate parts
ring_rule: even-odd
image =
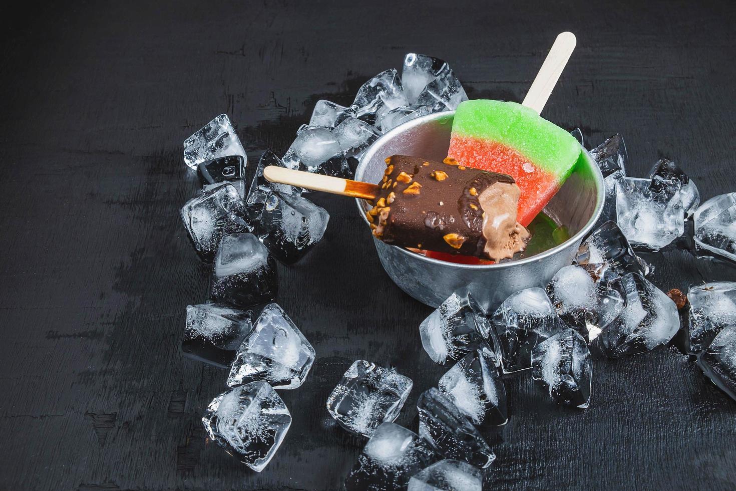
[[[620,132],[642,175],[662,156],[704,198],[736,191],[736,10],[729,2],[87,1],[22,4],[0,34],[0,487],[333,490],[364,440],[325,400],[355,358],[414,379],[398,423],[446,370],[422,351],[431,309],[384,274],[353,205],[280,267],[283,305],[314,345],[294,416],[262,473],[205,444],[227,373],[182,358],[205,300],[178,210],[195,193],[182,141],[219,113],[252,160],[283,152],[317,99],[347,103],[408,51],[448,60],[471,97],[521,100],[556,33],[578,35],[545,116],[591,144]],[[654,283],[736,280],[686,252]],[[489,489],[733,489],[736,403],[675,347],[595,365],[586,411],[506,380],[511,420]]]

